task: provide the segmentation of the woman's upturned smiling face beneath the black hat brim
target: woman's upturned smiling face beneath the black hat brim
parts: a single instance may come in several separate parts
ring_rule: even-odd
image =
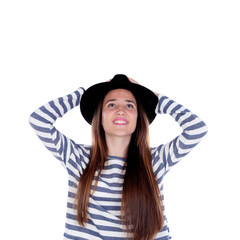
[[[105,96],[102,126],[106,137],[131,137],[136,129],[137,116],[137,102],[130,91],[115,89]]]

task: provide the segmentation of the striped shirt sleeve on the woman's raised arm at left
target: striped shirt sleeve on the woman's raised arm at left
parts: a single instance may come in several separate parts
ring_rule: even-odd
[[[29,117],[29,123],[39,139],[53,156],[61,161],[64,167],[66,167],[70,156],[70,160],[74,160],[72,162],[79,162],[80,165],[83,165],[82,169],[87,164],[87,162],[82,161],[80,163],[78,161],[83,158],[84,154],[81,153],[87,150],[54,127],[54,123],[58,118],[63,117],[64,114],[79,105],[83,93],[84,89],[79,88],[69,95],[48,102],[34,111]],[[72,163],[72,165],[74,164]],[[81,166],[78,166],[78,168],[81,168]],[[80,172],[82,169],[80,169]]]

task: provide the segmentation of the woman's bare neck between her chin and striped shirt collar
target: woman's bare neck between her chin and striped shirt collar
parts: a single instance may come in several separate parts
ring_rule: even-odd
[[[130,140],[131,136],[126,137],[106,136],[108,155],[116,157],[127,157]]]

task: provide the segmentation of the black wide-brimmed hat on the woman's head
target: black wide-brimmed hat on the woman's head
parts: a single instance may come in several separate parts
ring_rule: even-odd
[[[141,102],[149,123],[156,117],[155,108],[158,103],[158,97],[148,88],[139,84],[132,83],[128,77],[123,74],[117,74],[109,82],[95,84],[88,88],[82,95],[80,110],[84,119],[91,124],[95,109],[101,99],[113,89],[127,89]]]

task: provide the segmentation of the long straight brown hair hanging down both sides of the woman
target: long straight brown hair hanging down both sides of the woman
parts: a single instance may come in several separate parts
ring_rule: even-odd
[[[95,189],[108,153],[105,133],[101,125],[102,102],[100,101],[93,117],[91,157],[80,178],[75,198],[77,220],[82,226],[88,221],[87,208],[94,174],[99,171]],[[127,232],[133,234],[134,240],[151,240],[161,230],[164,217],[160,191],[152,167],[149,122],[138,100],[137,107],[137,127],[128,148],[121,212]]]

